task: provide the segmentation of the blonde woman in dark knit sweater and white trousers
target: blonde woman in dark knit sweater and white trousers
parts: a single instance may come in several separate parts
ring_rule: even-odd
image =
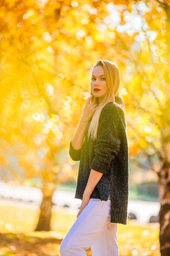
[[[127,224],[129,199],[125,104],[119,85],[115,63],[100,60],[92,67],[91,96],[69,149],[72,160],[80,160],[75,198],[82,204],[60,245],[61,256],[85,256],[89,247],[92,256],[119,256],[117,223]]]

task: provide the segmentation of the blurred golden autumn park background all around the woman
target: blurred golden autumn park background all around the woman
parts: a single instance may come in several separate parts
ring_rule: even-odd
[[[118,66],[126,106],[119,254],[170,255],[169,45],[168,0],[0,1],[0,256],[60,255],[81,205],[69,143],[99,59]]]

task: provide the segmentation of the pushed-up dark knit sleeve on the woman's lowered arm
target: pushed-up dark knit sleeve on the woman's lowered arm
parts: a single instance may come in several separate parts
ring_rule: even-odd
[[[111,161],[120,150],[120,118],[114,105],[105,106],[100,115],[101,123],[98,128],[95,157],[91,162],[91,169],[106,174]]]

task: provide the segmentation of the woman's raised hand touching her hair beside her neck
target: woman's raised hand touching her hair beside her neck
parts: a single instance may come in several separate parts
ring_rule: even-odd
[[[92,116],[94,115],[94,112],[98,108],[98,104],[96,102],[90,103],[92,97],[93,95],[88,97],[85,107],[83,108],[83,114],[82,114],[82,119],[88,122],[91,120]]]

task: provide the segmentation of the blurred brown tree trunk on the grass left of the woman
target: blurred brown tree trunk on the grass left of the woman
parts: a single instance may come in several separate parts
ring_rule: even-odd
[[[43,189],[43,198],[40,206],[40,217],[37,227],[34,231],[49,231],[50,230],[50,220],[52,212],[52,195],[54,189],[50,189],[50,182],[45,182]]]

